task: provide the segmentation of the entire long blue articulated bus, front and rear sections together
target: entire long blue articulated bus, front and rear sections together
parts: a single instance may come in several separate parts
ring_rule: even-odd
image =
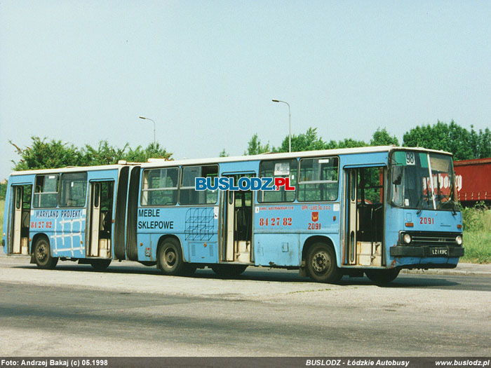
[[[2,243],[41,268],[129,259],[166,275],[267,266],[320,282],[390,282],[464,255],[451,154],[396,146],[14,172]]]

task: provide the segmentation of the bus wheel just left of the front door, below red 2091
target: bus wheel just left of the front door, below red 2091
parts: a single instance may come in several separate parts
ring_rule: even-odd
[[[314,243],[307,254],[307,270],[310,277],[317,282],[338,282],[342,273],[337,268],[336,254],[332,247],[325,243]]]

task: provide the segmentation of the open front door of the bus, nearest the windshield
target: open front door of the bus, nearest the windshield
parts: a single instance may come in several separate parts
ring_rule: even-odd
[[[344,262],[384,266],[384,167],[344,170]]]

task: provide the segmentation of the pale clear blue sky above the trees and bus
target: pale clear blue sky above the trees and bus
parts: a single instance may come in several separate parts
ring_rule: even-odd
[[[174,158],[278,146],[400,140],[416,125],[491,126],[489,1],[0,2],[0,179],[11,139],[107,139]]]

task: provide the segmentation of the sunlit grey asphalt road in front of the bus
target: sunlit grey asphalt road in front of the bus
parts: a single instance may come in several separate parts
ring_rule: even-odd
[[[491,278],[325,285],[251,268],[236,280],[115,264],[0,259],[2,356],[490,355]]]

